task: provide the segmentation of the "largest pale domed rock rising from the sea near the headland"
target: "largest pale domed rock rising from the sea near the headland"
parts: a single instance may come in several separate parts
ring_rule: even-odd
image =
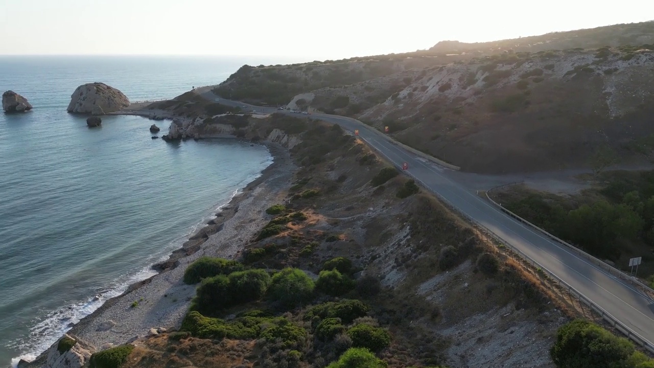
[[[69,113],[103,115],[129,107],[129,99],[122,92],[104,83],[78,86],[66,109]]]

